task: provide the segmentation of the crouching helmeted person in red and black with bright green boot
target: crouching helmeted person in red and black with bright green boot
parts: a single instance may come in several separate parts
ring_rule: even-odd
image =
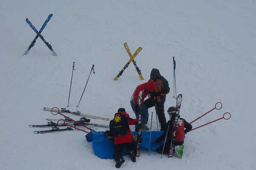
[[[158,153],[162,153],[162,152],[169,153],[170,147],[171,147],[174,121],[175,121],[175,117],[177,116],[176,108],[172,106],[168,109],[167,112],[170,115],[171,119],[167,122],[167,126],[166,126],[166,129],[164,130],[163,134],[159,138],[157,138],[156,140],[153,141],[153,142],[161,142],[161,141],[165,140],[166,133],[168,130],[165,145],[163,144],[160,147],[157,147],[157,149],[156,149]],[[169,129],[168,129],[168,125],[169,125]],[[190,125],[188,122],[186,122],[185,119],[178,118],[177,130],[176,130],[176,141],[174,143],[174,146],[177,146],[176,150],[177,150],[177,153],[178,153],[178,156],[180,159],[183,155],[183,147],[184,147],[183,144],[184,144],[185,134],[188,133],[190,130],[192,130],[192,125]],[[163,150],[163,146],[164,146],[164,150]],[[174,147],[173,153],[174,152],[175,152],[175,147]]]

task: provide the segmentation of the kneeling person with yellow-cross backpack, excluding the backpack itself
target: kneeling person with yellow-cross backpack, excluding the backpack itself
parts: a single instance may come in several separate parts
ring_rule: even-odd
[[[138,122],[138,119],[131,119],[129,114],[125,112],[124,108],[119,108],[117,112],[128,118],[128,125],[135,125]],[[136,156],[135,156],[136,144],[134,143],[134,138],[129,126],[127,128],[127,133],[125,135],[114,136],[114,142],[115,142],[115,150],[114,150],[113,158],[116,161],[116,168],[121,167],[121,165],[125,162],[125,159],[122,157],[122,151],[124,150],[125,147],[128,150],[128,155],[130,156],[131,160],[133,162],[136,162]]]

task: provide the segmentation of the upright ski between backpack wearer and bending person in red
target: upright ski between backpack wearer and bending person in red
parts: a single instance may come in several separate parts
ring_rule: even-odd
[[[138,96],[138,127],[137,127],[137,151],[136,151],[136,156],[140,156],[140,142],[142,141],[141,137],[141,107],[142,107],[142,94],[143,91],[140,91],[139,96]]]

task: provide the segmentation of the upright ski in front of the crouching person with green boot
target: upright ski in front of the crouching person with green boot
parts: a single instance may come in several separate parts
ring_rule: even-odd
[[[171,140],[171,146],[170,146],[170,151],[169,151],[168,158],[173,156],[174,144],[175,144],[175,141],[176,141],[177,124],[178,124],[178,119],[180,118],[181,102],[182,102],[182,94],[179,94],[177,96],[177,101],[176,101],[175,121],[174,121],[174,125],[173,125],[173,130],[172,130],[172,140]]]

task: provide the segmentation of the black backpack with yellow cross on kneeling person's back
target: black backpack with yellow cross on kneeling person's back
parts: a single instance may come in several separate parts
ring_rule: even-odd
[[[116,113],[114,119],[109,122],[109,129],[113,136],[124,136],[129,128],[128,117],[122,113]]]

